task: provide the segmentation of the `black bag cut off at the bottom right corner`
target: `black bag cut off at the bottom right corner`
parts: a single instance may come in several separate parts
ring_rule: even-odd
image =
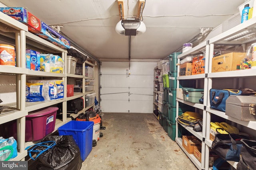
[[[240,160],[237,170],[255,170],[256,167],[256,141],[242,139]]]

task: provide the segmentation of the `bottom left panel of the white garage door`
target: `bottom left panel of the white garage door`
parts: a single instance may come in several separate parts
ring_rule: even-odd
[[[128,113],[130,104],[122,100],[102,100],[100,107],[102,112]]]

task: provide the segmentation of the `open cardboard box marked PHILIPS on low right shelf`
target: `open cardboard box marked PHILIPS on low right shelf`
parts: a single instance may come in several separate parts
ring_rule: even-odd
[[[189,154],[194,154],[194,147],[200,147],[201,143],[195,136],[182,136],[182,147]]]

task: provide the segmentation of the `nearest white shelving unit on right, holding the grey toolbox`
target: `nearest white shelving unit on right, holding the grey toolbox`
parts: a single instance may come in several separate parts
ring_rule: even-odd
[[[217,35],[216,37],[213,37],[212,39],[209,39],[210,44],[210,54],[213,54],[215,45],[242,45],[243,47],[246,47],[246,44],[251,44],[256,42],[256,18],[251,18],[250,20],[241,23],[223,33],[220,35]],[[245,48],[244,48],[245,50]],[[238,82],[234,84],[233,88],[238,88],[239,81],[243,80],[244,78],[256,78],[256,72],[253,69],[248,70],[235,70],[235,71],[228,71],[228,72],[211,72],[212,70],[212,55],[209,56],[209,73],[208,73],[208,93],[210,92],[210,89],[212,88],[212,83],[214,80],[218,79],[225,79],[225,78],[234,78],[238,79]],[[234,81],[236,82],[236,81]],[[225,88],[225,87],[223,87]],[[240,87],[239,87],[240,88]],[[246,87],[242,87],[246,88]],[[237,123],[239,125],[243,125],[245,127],[248,127],[250,129],[256,130],[256,121],[241,121],[234,117],[230,117],[228,115],[225,115],[224,112],[218,111],[215,109],[210,108],[210,99],[208,97],[207,99],[207,120],[206,120],[206,169],[209,169],[208,166],[208,158],[209,155],[209,148],[212,146],[212,141],[210,140],[210,121],[211,121],[211,115],[217,115],[219,117],[222,117],[226,120],[229,120],[231,122]],[[234,161],[227,161],[231,166],[236,168],[236,165],[238,162]]]

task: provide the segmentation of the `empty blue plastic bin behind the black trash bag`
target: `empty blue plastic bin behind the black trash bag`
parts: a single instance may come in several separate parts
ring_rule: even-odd
[[[59,135],[72,135],[84,161],[92,151],[93,121],[69,121],[58,128]]]

